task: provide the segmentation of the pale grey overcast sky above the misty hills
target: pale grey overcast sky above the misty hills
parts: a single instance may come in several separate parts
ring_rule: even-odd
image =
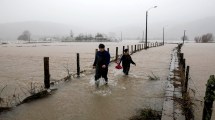
[[[183,22],[215,16],[215,0],[0,0],[0,23],[50,21],[111,31],[114,28],[171,27]]]

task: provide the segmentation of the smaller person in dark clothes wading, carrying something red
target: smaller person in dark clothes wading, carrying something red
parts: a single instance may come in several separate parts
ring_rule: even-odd
[[[124,50],[124,54],[120,59],[119,64],[122,62],[122,67],[123,67],[123,73],[125,75],[128,75],[129,70],[130,70],[130,64],[133,64],[136,66],[136,63],[132,60],[131,56],[129,55],[128,49]]]

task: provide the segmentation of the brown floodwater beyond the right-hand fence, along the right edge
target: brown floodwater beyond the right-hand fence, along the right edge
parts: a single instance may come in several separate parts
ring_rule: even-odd
[[[182,52],[190,66],[189,92],[194,98],[195,120],[201,120],[207,80],[210,75],[215,75],[215,44],[189,43],[182,47]],[[215,120],[215,111],[212,120]]]

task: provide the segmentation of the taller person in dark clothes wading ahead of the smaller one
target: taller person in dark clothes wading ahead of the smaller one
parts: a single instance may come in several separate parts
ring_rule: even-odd
[[[105,45],[99,45],[99,51],[96,53],[93,68],[96,68],[95,83],[98,83],[98,79],[103,77],[105,84],[108,84],[108,65],[110,63],[110,54],[105,50]]]

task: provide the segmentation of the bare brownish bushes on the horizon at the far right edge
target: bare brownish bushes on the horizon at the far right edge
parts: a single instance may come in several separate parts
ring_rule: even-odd
[[[208,43],[208,42],[213,42],[214,41],[214,37],[212,33],[207,33],[200,36],[197,36],[194,38],[194,40],[196,41],[196,43]]]

